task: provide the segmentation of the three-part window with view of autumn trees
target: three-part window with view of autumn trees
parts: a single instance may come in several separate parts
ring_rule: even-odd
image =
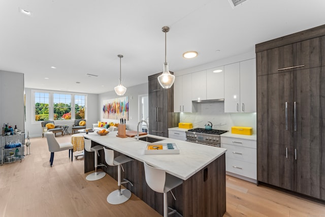
[[[86,95],[36,90],[32,93],[35,121],[86,119]]]

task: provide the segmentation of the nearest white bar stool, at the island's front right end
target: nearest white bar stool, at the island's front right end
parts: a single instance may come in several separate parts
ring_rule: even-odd
[[[183,183],[183,180],[177,178],[169,173],[166,173],[165,170],[152,167],[146,162],[144,164],[144,173],[146,177],[146,182],[149,185],[150,189],[158,193],[164,193],[164,217],[167,217],[170,214],[177,213],[182,216],[176,209],[168,207],[167,193],[170,191],[176,200],[172,189],[176,188],[178,185]],[[168,209],[171,209],[171,212],[168,212]]]

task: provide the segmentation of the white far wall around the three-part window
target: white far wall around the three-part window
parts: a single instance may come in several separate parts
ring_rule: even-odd
[[[42,90],[40,91],[48,91]],[[55,91],[59,92],[59,91]],[[29,137],[41,137],[42,136],[42,127],[41,122],[34,122],[34,113],[32,111],[32,91],[30,88],[25,88],[26,95],[26,123],[25,123],[25,134],[29,132]],[[98,95],[97,94],[87,94],[87,119],[86,119],[86,127],[92,128],[92,123],[97,122],[99,109],[98,109]],[[60,120],[54,121],[56,125],[68,125],[68,131],[72,133],[72,125],[74,124],[74,120]]]

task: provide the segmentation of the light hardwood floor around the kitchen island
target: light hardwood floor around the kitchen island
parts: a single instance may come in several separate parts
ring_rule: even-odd
[[[71,137],[56,138],[67,142]],[[86,181],[83,159],[71,162],[68,151],[56,152],[51,168],[46,138],[30,141],[31,154],[21,163],[0,167],[0,217],[161,216],[135,195],[120,205],[107,203],[117,188],[114,179]],[[325,216],[323,204],[232,176],[226,176],[226,201],[224,216]]]

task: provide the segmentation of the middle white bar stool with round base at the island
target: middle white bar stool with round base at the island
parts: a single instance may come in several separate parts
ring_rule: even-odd
[[[123,179],[124,181],[121,182],[121,168],[124,172],[124,169],[122,167],[121,164],[127,163],[129,161],[133,161],[133,159],[128,158],[124,155],[120,155],[116,158],[114,158],[114,150],[112,149],[108,149],[108,148],[104,148],[104,152],[105,152],[105,161],[108,165],[110,166],[117,166],[117,186],[118,186],[118,190],[115,190],[113,192],[111,192],[108,196],[107,196],[107,202],[109,202],[110,204],[121,204],[126,202],[132,195],[131,191],[129,191],[128,189],[121,189],[121,184],[127,183],[129,182],[132,186],[133,184],[127,180],[127,179]]]

